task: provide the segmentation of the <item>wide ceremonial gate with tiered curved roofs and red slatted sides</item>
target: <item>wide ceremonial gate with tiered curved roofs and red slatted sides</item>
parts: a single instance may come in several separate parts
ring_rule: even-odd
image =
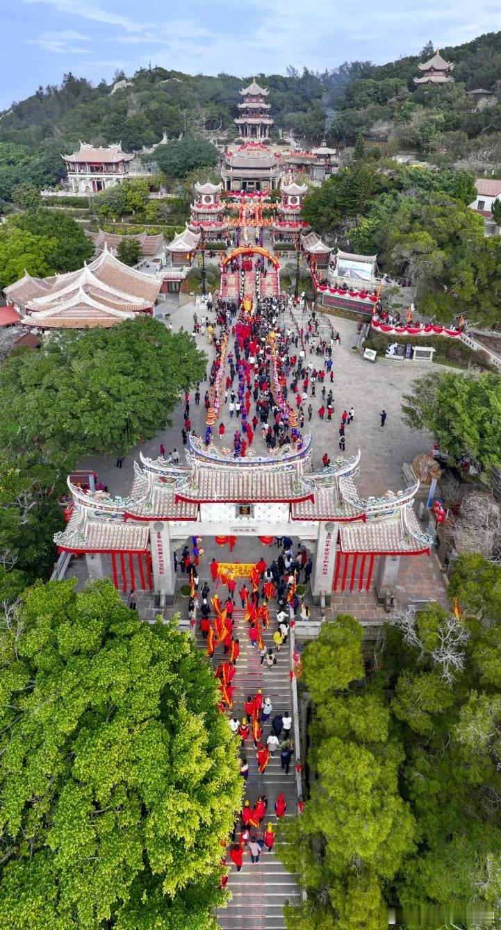
[[[311,435],[299,451],[233,458],[190,437],[187,465],[164,458],[135,463],[128,498],[84,491],[69,481],[74,509],[56,534],[60,551],[85,553],[91,578],[109,575],[115,587],[154,590],[160,604],[175,596],[173,552],[190,536],[292,536],[312,554],[311,591],[369,591],[376,558],[377,587],[394,587],[402,556],[428,553],[430,538],[413,512],[418,485],[359,497],[360,453],[327,470],[311,466]]]

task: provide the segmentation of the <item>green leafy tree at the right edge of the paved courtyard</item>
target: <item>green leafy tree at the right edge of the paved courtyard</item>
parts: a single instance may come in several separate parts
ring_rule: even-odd
[[[501,378],[490,372],[417,379],[402,397],[405,422],[429,430],[454,461],[467,456],[485,472],[501,466]]]

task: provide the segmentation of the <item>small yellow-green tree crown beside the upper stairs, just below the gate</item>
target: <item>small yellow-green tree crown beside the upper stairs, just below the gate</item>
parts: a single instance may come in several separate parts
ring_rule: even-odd
[[[347,614],[338,614],[332,623],[322,623],[318,640],[308,645],[303,658],[305,679],[316,703],[363,677],[361,637],[359,622]]]

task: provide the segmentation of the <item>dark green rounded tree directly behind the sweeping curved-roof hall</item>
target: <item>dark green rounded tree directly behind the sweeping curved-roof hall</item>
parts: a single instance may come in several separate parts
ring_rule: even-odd
[[[47,261],[60,274],[82,268],[94,251],[82,226],[61,210],[37,209],[11,217],[7,221],[7,230],[10,229],[55,239],[56,247],[47,252]]]

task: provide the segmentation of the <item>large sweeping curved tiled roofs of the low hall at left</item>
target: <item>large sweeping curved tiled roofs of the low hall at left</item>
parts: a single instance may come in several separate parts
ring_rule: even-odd
[[[161,278],[143,274],[102,253],[77,272],[35,278],[28,272],[4,288],[7,306],[22,314],[23,326],[84,329],[116,326],[137,313],[153,315]]]

